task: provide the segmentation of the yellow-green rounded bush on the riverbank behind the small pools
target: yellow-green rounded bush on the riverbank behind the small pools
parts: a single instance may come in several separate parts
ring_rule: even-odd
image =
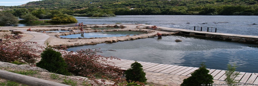
[[[71,15],[67,14],[60,14],[60,15],[54,15],[53,18],[51,18],[50,22],[56,22],[56,23],[76,23],[77,19]]]

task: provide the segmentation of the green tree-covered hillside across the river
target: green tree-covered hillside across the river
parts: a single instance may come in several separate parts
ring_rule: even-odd
[[[115,15],[258,15],[258,0],[42,0],[15,8],[66,9],[79,16]],[[71,15],[70,13],[69,15]],[[98,16],[98,15],[96,15]]]

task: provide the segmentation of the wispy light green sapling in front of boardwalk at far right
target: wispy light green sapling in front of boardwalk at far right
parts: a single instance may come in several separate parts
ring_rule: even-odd
[[[235,84],[237,84],[239,80],[234,80],[235,77],[237,77],[239,75],[239,72],[235,72],[236,71],[236,64],[233,64],[233,66],[231,66],[230,64],[228,64],[228,70],[226,71],[225,75],[226,75],[226,83],[227,84],[232,84],[232,86],[236,86]]]

